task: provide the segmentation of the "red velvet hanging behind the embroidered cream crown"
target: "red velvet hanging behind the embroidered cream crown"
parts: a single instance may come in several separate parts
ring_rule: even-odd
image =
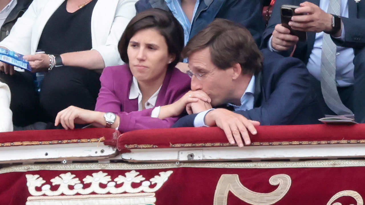
[[[199,167],[180,167],[180,168],[163,168],[159,169],[156,165],[155,169],[135,169],[139,175],[143,175],[145,179],[158,175],[161,171],[173,171],[168,180],[160,189],[155,192],[157,205],[212,205],[215,199],[215,190],[219,179],[223,174],[237,174],[238,182],[246,187],[251,192],[269,193],[278,189],[277,185],[270,185],[269,178],[273,175],[281,174],[289,176],[289,188],[283,197],[275,205],[325,205],[330,198],[336,193],[350,190],[356,192],[360,198],[365,197],[364,179],[365,167],[313,167],[313,168],[277,168],[277,169],[232,169],[232,168],[199,168]],[[107,167],[107,166],[106,166]],[[113,168],[114,169],[114,168]],[[51,190],[55,191],[59,185],[52,185],[50,180],[57,177],[59,174],[70,172],[82,182],[87,175],[92,175],[103,171],[110,176],[110,181],[117,178],[119,175],[124,176],[126,172],[131,170],[39,170],[26,172],[11,172],[0,175],[0,201],[1,204],[19,205],[25,204],[27,197],[31,196],[27,188],[26,174],[39,175],[45,180],[41,185],[51,185]],[[12,180],[9,180],[12,179]],[[143,181],[142,180],[142,181]],[[134,181],[134,179],[132,179]],[[139,187],[141,182],[133,183],[133,187]],[[230,182],[232,184],[232,181]],[[281,182],[283,183],[283,181]],[[84,189],[90,187],[90,184],[83,183]],[[100,187],[105,188],[107,185],[101,184]],[[117,184],[115,187],[120,187],[122,184]],[[154,187],[154,185],[150,185]],[[69,189],[73,189],[69,185]],[[41,187],[36,188],[37,191]],[[238,189],[235,189],[238,191]],[[238,193],[238,192],[236,192]],[[96,194],[96,193],[91,193]],[[105,193],[110,194],[110,193]],[[64,194],[61,194],[64,195]],[[78,195],[78,194],[76,194]],[[262,199],[263,196],[255,195],[256,200]],[[231,191],[227,194],[228,205],[259,205],[258,202],[247,202],[247,197],[241,200]],[[245,202],[246,200],[246,202]],[[270,200],[268,200],[270,201]],[[353,197],[342,196],[334,202],[341,202],[342,205],[357,204]],[[334,203],[333,202],[333,203]],[[330,203],[330,204],[333,204]],[[81,204],[81,203],[80,203]],[[360,203],[358,203],[359,205]]]

